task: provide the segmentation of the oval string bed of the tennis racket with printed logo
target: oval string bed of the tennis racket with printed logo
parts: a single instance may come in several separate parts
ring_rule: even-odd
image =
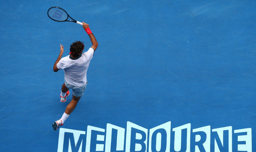
[[[51,8],[48,11],[48,15],[50,18],[56,21],[65,21],[68,18],[67,13],[60,8]]]

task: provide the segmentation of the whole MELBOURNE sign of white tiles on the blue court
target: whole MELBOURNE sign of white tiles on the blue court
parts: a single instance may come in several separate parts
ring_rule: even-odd
[[[104,147],[105,152],[147,152],[147,149],[148,152],[210,152],[220,149],[232,152],[232,147],[234,151],[252,152],[251,128],[233,130],[231,126],[213,129],[205,126],[191,129],[191,124],[185,124],[171,131],[171,121],[151,129],[127,122],[126,128],[107,124],[106,129],[87,126],[86,132],[61,128],[58,152],[103,152]]]

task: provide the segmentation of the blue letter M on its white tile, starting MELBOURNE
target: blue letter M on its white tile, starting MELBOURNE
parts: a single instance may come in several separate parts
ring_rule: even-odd
[[[58,152],[85,151],[85,131],[60,128]]]

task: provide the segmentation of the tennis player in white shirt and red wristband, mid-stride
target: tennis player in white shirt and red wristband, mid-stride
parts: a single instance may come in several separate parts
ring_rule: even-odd
[[[66,101],[66,97],[69,96],[69,89],[72,89],[73,94],[72,100],[67,105],[66,110],[61,119],[55,121],[52,124],[54,130],[57,130],[60,126],[63,125],[64,121],[68,118],[70,113],[76,108],[79,99],[83,95],[86,85],[88,83],[86,79],[87,69],[94,55],[94,51],[98,47],[98,42],[92,34],[89,25],[84,22],[82,23],[84,30],[87,32],[91,39],[92,46],[88,49],[87,52],[82,53],[84,49],[83,43],[80,41],[73,42],[70,45],[70,55],[62,58],[64,46],[61,45],[60,55],[53,66],[54,72],[64,69],[65,73],[65,83],[62,85],[61,88],[61,102]]]

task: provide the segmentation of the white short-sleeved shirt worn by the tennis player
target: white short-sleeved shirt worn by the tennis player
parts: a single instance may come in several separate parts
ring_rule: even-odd
[[[58,69],[64,69],[65,81],[68,84],[77,87],[82,87],[86,84],[86,73],[93,54],[94,49],[90,47],[87,52],[82,53],[77,58],[71,58],[68,55],[57,63]]]

